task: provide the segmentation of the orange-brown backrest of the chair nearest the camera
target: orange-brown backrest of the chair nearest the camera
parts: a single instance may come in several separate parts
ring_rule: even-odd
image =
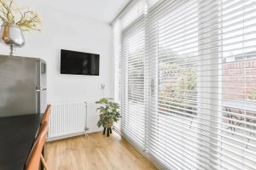
[[[46,122],[41,125],[38,131],[38,138],[34,142],[32,146],[32,150],[26,161],[26,166],[25,166],[26,170],[35,170],[39,168],[40,156],[46,140],[47,131],[48,131],[48,123]]]

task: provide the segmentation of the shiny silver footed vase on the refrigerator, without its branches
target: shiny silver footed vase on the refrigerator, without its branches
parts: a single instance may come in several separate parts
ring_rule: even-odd
[[[20,26],[3,23],[1,26],[1,42],[10,46],[9,55],[15,56],[15,48],[21,48],[25,45],[25,39]]]

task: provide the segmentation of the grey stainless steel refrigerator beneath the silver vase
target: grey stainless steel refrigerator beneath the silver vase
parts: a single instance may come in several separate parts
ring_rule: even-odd
[[[44,112],[46,67],[43,59],[0,55],[0,117]]]

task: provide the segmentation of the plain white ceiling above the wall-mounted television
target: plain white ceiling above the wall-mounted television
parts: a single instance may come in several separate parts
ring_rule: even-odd
[[[110,23],[131,0],[18,0],[21,6],[34,8],[42,4],[86,18]],[[38,10],[40,11],[40,10]]]

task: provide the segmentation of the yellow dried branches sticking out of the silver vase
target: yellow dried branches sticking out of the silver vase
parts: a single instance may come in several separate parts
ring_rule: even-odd
[[[14,0],[0,0],[3,24],[20,26],[22,31],[41,31],[41,20],[35,11],[15,6]]]

